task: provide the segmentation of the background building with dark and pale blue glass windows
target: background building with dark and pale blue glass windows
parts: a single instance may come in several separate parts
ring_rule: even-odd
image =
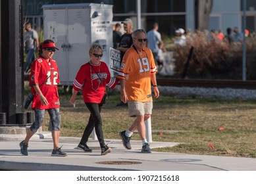
[[[136,28],[136,0],[101,0],[106,5],[113,5],[113,21],[120,22],[132,18]],[[174,35],[178,28],[195,30],[196,0],[141,0],[141,25],[145,30],[151,24],[159,23],[159,32]],[[246,1],[246,22],[249,32],[256,31],[256,1]],[[61,0],[24,0],[24,18],[30,20],[35,27],[43,26],[42,5],[64,4],[70,1]],[[94,1],[93,1],[94,2]],[[91,3],[90,0],[74,0],[72,3]],[[95,3],[95,2],[94,2]],[[209,20],[209,30],[222,30],[238,27],[242,31],[243,0],[213,0],[213,9]],[[134,28],[134,29],[135,29]]]

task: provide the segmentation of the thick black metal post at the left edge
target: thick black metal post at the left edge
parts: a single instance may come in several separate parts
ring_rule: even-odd
[[[17,124],[16,114],[24,113],[22,0],[1,0],[1,82],[0,112],[7,124]]]

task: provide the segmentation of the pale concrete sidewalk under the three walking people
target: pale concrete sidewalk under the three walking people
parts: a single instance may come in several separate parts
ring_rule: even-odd
[[[24,138],[24,136],[23,136]],[[256,171],[255,158],[235,158],[223,156],[205,156],[178,154],[172,152],[141,153],[141,141],[131,141],[132,150],[124,149],[120,140],[105,140],[112,152],[101,156],[98,141],[90,140],[88,146],[93,152],[86,153],[74,149],[80,138],[60,137],[62,150],[66,157],[51,156],[53,143],[51,135],[44,139],[32,139],[28,147],[28,156],[20,154],[19,143],[0,141],[0,170],[140,170],[140,171]],[[172,147],[178,143],[153,142],[156,147]]]

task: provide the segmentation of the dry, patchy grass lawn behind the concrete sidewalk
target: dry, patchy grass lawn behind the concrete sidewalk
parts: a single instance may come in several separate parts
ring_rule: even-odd
[[[76,108],[68,102],[70,96],[61,95],[61,136],[82,137],[90,112],[82,95],[78,95]],[[120,95],[109,93],[101,112],[105,139],[120,139],[118,132],[128,129],[134,121],[134,118],[128,118],[128,108],[116,106],[118,103]],[[256,158],[255,114],[255,101],[189,95],[179,98],[174,94],[161,96],[153,100],[153,141],[178,142],[180,145],[153,150]],[[48,122],[46,113],[43,130],[47,130]],[[218,130],[220,127],[224,130]],[[178,132],[168,133],[166,130]],[[138,133],[134,133],[132,139],[140,140]]]

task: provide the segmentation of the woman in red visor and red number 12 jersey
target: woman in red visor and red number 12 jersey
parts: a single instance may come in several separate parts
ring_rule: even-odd
[[[45,110],[50,116],[51,135],[53,137],[53,151],[51,156],[66,156],[59,147],[59,132],[61,129],[61,119],[59,114],[59,94],[57,85],[59,84],[59,68],[57,62],[52,59],[56,51],[55,43],[47,39],[39,45],[39,57],[32,63],[30,72],[30,86],[32,93],[35,93],[32,101],[32,109],[35,111],[35,121],[30,126],[26,138],[20,142],[21,154],[28,155],[28,142],[38,131],[43,123]],[[59,50],[59,49],[57,49]]]

